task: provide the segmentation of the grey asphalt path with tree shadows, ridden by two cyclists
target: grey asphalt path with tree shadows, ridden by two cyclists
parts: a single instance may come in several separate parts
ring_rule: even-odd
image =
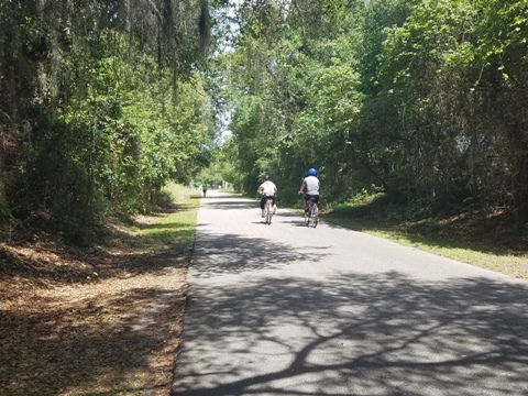
[[[528,282],[208,191],[172,395],[528,395]]]

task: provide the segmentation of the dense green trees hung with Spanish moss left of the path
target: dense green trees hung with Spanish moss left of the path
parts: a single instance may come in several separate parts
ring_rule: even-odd
[[[208,8],[173,6],[0,4],[0,194],[13,216],[90,243],[205,165]]]

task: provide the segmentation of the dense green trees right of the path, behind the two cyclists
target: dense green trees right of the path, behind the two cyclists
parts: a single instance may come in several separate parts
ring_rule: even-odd
[[[305,1],[271,33],[264,9],[244,8],[222,61],[229,177],[252,190],[270,173],[294,191],[315,166],[327,201],[381,189],[415,209],[502,206],[526,222],[527,10]]]

